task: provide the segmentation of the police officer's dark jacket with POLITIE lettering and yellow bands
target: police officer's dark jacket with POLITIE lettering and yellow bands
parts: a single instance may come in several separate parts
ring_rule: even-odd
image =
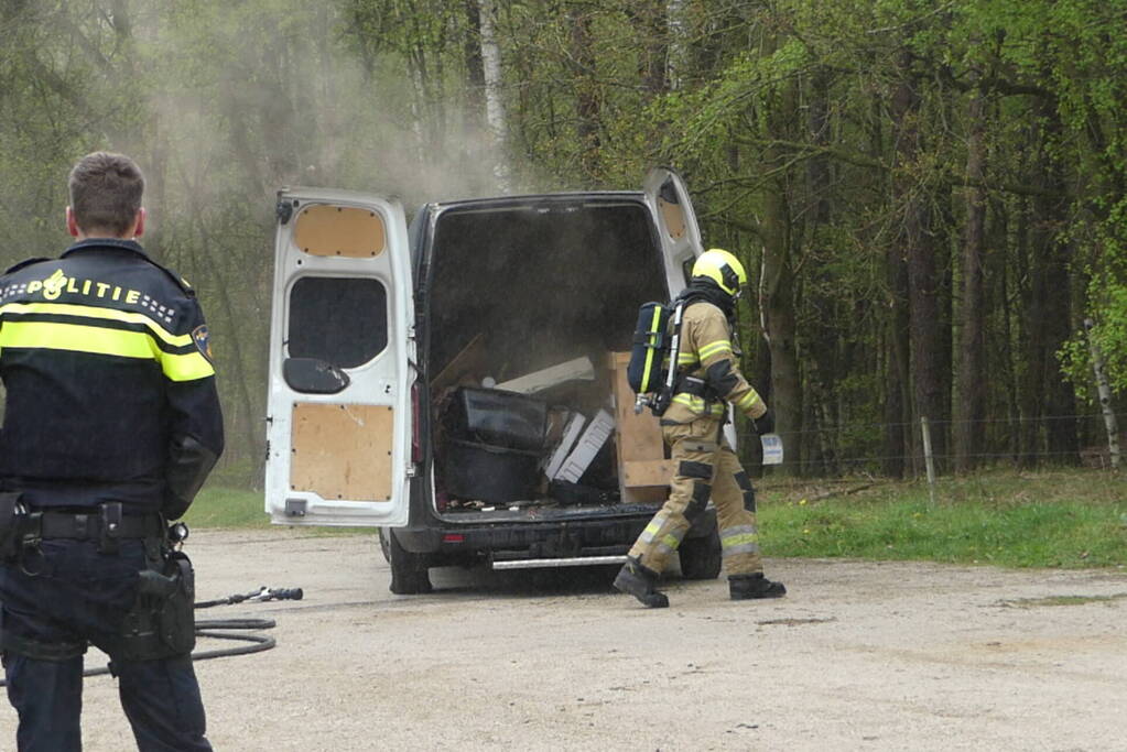
[[[133,241],[94,239],[0,279],[0,478],[37,505],[175,519],[222,451],[207,328]]]

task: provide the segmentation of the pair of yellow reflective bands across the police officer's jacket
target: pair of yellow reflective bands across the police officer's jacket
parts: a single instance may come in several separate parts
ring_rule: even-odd
[[[156,360],[174,382],[215,374],[190,334],[171,334],[140,313],[65,303],[9,303],[0,306],[0,352],[45,348]]]

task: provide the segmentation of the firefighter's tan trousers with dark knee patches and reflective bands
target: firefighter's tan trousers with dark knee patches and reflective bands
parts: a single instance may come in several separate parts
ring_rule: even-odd
[[[755,527],[755,492],[736,454],[720,435],[720,421],[699,418],[662,427],[674,465],[669,498],[649,521],[629,556],[656,573],[701,514],[711,498],[720,528],[728,576],[763,571]]]

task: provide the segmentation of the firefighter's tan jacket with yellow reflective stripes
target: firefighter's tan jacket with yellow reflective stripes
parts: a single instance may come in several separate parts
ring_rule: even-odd
[[[685,308],[681,320],[680,350],[680,373],[703,379],[717,395],[748,418],[758,418],[767,411],[758,393],[739,373],[728,319],[719,307],[698,301]],[[704,417],[719,420],[724,412],[722,402],[678,392],[673,395],[668,410],[662,415],[662,422],[689,423]]]

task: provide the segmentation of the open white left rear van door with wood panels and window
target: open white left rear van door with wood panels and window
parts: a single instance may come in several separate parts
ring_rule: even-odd
[[[284,525],[407,523],[415,325],[398,202],[278,193],[266,511]]]

